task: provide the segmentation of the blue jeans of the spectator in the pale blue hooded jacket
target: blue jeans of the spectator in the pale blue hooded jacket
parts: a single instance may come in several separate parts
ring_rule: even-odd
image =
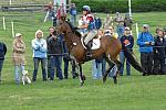
[[[37,80],[37,74],[38,74],[38,68],[39,68],[39,63],[41,62],[41,68],[42,68],[42,78],[43,81],[46,80],[46,58],[39,58],[39,57],[33,57],[33,65],[34,65],[34,70],[33,70],[33,78],[32,80]]]

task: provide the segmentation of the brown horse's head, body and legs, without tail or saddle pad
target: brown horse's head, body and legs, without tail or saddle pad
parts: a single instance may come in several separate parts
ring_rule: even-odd
[[[111,35],[104,35],[100,38],[101,46],[97,50],[92,51],[92,58],[86,58],[86,50],[82,44],[82,36],[81,34],[71,25],[69,21],[65,21],[64,18],[60,19],[59,21],[59,30],[60,33],[64,35],[64,42],[69,48],[69,52],[74,57],[75,62],[79,64],[80,67],[80,82],[83,86],[85,76],[82,73],[82,64],[89,62],[91,59],[97,59],[103,57],[106,63],[108,64],[108,68],[106,73],[103,73],[103,82],[106,81],[107,75],[111,69],[116,65],[117,73],[114,73],[113,80],[114,84],[117,84],[117,74],[120,72],[121,62],[117,59],[117,56],[122,50],[122,44],[118,38],[115,38]]]

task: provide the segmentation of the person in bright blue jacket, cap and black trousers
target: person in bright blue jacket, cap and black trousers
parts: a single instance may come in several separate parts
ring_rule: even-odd
[[[143,73],[143,76],[151,75],[153,73],[152,68],[154,37],[149,33],[148,24],[143,25],[143,32],[138,35],[137,45],[139,46],[141,52],[141,64],[145,70]]]

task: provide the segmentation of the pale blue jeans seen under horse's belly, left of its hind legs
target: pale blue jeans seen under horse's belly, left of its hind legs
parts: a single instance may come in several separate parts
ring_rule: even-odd
[[[92,76],[93,79],[102,78],[102,63],[96,63],[95,59],[92,61]]]

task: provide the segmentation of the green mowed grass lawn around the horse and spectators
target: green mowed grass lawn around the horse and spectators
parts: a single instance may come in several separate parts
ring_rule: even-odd
[[[7,30],[2,29],[2,16],[6,15]],[[38,73],[38,81],[31,85],[14,84],[14,68],[11,58],[12,34],[11,21],[14,22],[14,32],[23,34],[27,44],[27,66],[32,77],[33,63],[31,40],[38,29],[48,35],[51,22],[43,23],[45,13],[41,12],[1,12],[0,14],[0,42],[8,46],[8,53],[2,70],[3,82],[0,85],[0,110],[165,110],[166,108],[166,76],[146,76],[132,68],[132,76],[118,77],[118,84],[114,85],[112,78],[106,84],[102,79],[94,80],[91,75],[91,62],[83,65],[83,72],[87,76],[85,85],[80,87],[79,79],[55,80],[43,82],[41,69]],[[98,14],[102,19],[106,14]],[[134,22],[151,24],[151,31],[166,25],[166,12],[134,13]],[[133,34],[136,41],[135,24]],[[134,52],[139,58],[135,44]],[[69,69],[69,73],[71,70]],[[126,73],[124,73],[126,74]]]

